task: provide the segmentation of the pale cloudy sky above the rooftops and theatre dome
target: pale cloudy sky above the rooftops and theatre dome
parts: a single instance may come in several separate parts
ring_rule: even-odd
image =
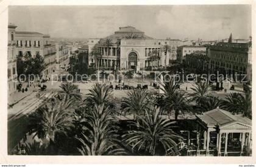
[[[248,39],[250,5],[10,6],[17,31],[55,38],[104,38],[133,26],[155,39]]]

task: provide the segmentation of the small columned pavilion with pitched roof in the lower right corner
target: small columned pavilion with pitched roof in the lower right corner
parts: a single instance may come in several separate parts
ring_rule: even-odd
[[[205,155],[213,154],[213,151],[210,152],[212,138],[216,139],[215,148],[218,156],[245,155],[244,148],[251,149],[252,122],[249,118],[232,115],[218,108],[196,117],[197,123],[204,129]],[[240,149],[237,149],[237,146],[233,148],[232,143],[238,141],[240,141]]]

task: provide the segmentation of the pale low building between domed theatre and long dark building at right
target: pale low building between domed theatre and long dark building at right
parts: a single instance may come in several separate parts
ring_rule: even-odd
[[[185,55],[194,53],[196,51],[206,52],[205,46],[180,46],[177,48],[177,61],[182,63],[182,60],[185,58]]]

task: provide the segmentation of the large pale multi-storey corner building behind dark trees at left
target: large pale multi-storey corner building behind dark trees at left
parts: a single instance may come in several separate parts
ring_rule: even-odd
[[[48,78],[48,75],[56,69],[56,49],[50,41],[50,36],[38,32],[16,32],[15,35],[16,55],[43,56],[46,68],[42,74]]]

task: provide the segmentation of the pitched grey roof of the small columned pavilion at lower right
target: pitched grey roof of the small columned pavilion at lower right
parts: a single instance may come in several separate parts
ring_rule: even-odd
[[[252,126],[252,120],[242,115],[233,115],[228,111],[216,108],[212,111],[205,112],[202,115],[196,115],[201,121],[203,121],[207,126],[219,125],[219,128],[227,126],[233,123],[240,123],[246,126]]]

